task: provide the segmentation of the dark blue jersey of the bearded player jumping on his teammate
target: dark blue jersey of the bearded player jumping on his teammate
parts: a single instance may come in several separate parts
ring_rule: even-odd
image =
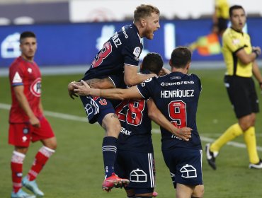
[[[143,45],[135,24],[123,26],[105,42],[83,79],[123,75],[125,64],[138,66],[142,49]]]

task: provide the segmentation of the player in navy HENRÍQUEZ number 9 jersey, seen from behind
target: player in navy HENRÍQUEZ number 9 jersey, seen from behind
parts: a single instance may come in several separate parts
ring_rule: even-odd
[[[190,127],[189,141],[183,141],[161,127],[162,153],[168,166],[176,197],[203,197],[202,146],[196,126],[198,99],[202,90],[200,78],[188,75],[191,52],[177,47],[169,62],[171,74],[149,78],[127,89],[94,89],[87,83],[74,89],[79,95],[98,95],[109,99],[146,99],[152,97],[165,117],[178,127]]]

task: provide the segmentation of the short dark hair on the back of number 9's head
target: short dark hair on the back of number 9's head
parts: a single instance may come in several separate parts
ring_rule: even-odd
[[[192,52],[188,47],[176,47],[171,54],[171,66],[183,68],[191,62]]]

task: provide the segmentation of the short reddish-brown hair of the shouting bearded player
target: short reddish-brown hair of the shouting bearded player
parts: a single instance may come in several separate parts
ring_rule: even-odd
[[[160,14],[160,11],[155,6],[149,4],[141,4],[134,11],[134,21],[139,21],[140,18],[152,16],[152,13]]]

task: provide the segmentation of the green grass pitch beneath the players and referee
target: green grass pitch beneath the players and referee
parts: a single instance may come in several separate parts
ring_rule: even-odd
[[[198,131],[203,137],[203,148],[209,139],[216,139],[229,125],[237,122],[223,84],[224,69],[192,70],[200,76],[203,91],[198,107]],[[57,136],[57,151],[50,158],[38,177],[38,185],[47,198],[59,197],[126,197],[124,190],[113,189],[103,192],[103,158],[101,144],[103,129],[98,124],[88,124],[81,102],[67,95],[67,83],[81,78],[79,75],[43,76],[42,103],[47,111],[47,119]],[[10,89],[7,77],[0,77],[0,103],[10,104]],[[256,83],[257,86],[257,83]],[[258,88],[258,86],[257,86]],[[258,90],[258,98],[261,94]],[[260,106],[261,101],[260,101]],[[67,120],[53,117],[49,112],[81,117],[81,120]],[[154,129],[158,127],[154,124]],[[262,157],[262,117],[256,120],[257,145]],[[153,133],[156,158],[156,192],[160,198],[175,197],[169,171],[161,156],[160,134]],[[8,110],[0,108],[0,197],[11,195],[10,160],[13,146],[7,144]],[[242,136],[234,142],[244,144]],[[31,144],[24,161],[23,174],[30,168],[40,143]],[[203,180],[205,197],[241,198],[262,197],[262,170],[250,170],[246,148],[224,146],[217,158],[217,170],[212,170],[203,154]],[[26,190],[25,190],[26,191]]]

